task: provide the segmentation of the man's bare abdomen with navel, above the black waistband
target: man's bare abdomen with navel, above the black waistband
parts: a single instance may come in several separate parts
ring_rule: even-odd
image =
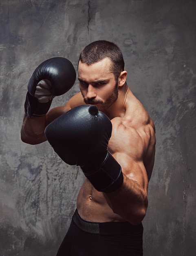
[[[97,191],[87,179],[77,197],[77,211],[83,220],[90,222],[126,221],[112,211],[104,194]]]

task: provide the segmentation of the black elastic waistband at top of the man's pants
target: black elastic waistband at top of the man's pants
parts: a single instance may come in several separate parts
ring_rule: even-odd
[[[141,233],[143,232],[142,223],[139,225],[131,225],[129,222],[89,222],[83,220],[77,209],[72,217],[73,222],[79,229],[91,234],[119,234],[119,233]]]

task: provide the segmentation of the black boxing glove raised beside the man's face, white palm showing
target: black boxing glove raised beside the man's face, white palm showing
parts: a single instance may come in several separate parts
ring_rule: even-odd
[[[35,69],[28,83],[24,103],[26,115],[28,117],[46,115],[52,99],[70,90],[75,78],[75,69],[66,58],[56,57],[42,62]]]

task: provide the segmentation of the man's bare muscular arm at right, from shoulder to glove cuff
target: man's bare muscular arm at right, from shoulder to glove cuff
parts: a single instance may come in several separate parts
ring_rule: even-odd
[[[145,217],[148,207],[148,182],[155,154],[154,128],[147,125],[143,129],[145,132],[139,134],[118,121],[112,121],[109,146],[113,157],[121,165],[124,179],[117,191],[104,193],[104,196],[114,213],[137,225]]]

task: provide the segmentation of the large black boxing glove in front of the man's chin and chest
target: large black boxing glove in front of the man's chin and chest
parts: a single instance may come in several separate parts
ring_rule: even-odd
[[[97,106],[82,105],[51,122],[45,135],[55,152],[70,165],[79,165],[98,191],[112,192],[123,183],[121,166],[108,151],[110,119]]]

